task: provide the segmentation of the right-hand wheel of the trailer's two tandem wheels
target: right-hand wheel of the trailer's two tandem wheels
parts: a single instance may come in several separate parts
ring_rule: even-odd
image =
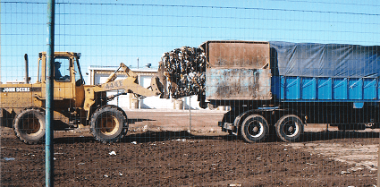
[[[297,115],[283,115],[275,123],[275,132],[283,141],[299,141],[303,133],[303,123]]]

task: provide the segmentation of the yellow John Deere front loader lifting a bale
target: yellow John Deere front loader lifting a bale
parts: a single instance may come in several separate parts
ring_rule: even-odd
[[[93,136],[102,142],[116,142],[128,131],[128,118],[122,108],[107,101],[127,93],[137,97],[160,96],[162,84],[152,78],[151,85],[139,85],[137,74],[121,64],[101,85],[85,85],[80,72],[80,53],[55,52],[54,129],[90,127]],[[27,61],[27,60],[26,60]],[[116,74],[127,74],[115,80]],[[29,80],[29,77],[25,78]],[[120,90],[106,96],[110,90]],[[17,137],[28,144],[45,138],[46,52],[39,53],[38,81],[30,84],[0,84],[0,123],[13,127]]]

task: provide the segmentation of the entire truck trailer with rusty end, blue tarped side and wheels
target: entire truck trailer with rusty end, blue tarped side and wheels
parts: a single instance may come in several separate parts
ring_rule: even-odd
[[[199,48],[207,65],[197,73],[206,81],[195,94],[202,107],[231,106],[218,123],[224,132],[248,142],[269,134],[298,141],[308,123],[344,131],[380,126],[378,46],[218,40]],[[172,81],[167,90],[190,88],[173,77],[194,77],[194,72],[168,72],[172,63],[160,64]]]

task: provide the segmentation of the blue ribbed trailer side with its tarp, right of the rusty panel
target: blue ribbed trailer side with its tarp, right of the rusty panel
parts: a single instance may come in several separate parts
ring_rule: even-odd
[[[289,102],[380,100],[380,47],[269,43],[275,98]]]

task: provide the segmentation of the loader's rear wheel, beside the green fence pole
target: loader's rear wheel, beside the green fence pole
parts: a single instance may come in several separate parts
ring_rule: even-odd
[[[22,111],[13,121],[16,136],[28,144],[45,140],[45,127],[45,114],[34,108]]]

